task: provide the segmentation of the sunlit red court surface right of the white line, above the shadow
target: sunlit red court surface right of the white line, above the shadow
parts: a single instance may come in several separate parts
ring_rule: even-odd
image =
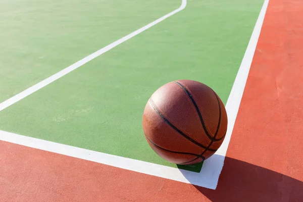
[[[303,2],[270,6],[228,156],[303,181]]]

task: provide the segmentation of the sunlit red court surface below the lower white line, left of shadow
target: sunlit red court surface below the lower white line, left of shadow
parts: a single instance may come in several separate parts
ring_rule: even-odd
[[[0,141],[0,201],[185,201],[193,186]],[[185,190],[180,191],[180,190]]]

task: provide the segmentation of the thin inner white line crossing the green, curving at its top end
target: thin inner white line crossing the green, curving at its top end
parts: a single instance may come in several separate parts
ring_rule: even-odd
[[[107,46],[99,49],[98,51],[90,54],[89,56],[83,58],[82,60],[79,60],[78,62],[70,65],[69,67],[61,70],[60,72],[57,72],[56,74],[54,74],[54,75],[52,75],[52,76],[50,76],[50,77],[48,77],[48,78],[40,81],[39,83],[37,83],[37,84],[35,84],[35,85],[27,88],[26,90],[24,90],[24,91],[22,91],[22,92],[20,92],[20,93],[18,93],[16,95],[14,95],[13,97],[5,100],[4,102],[0,103],[0,111],[2,111],[4,109],[8,108],[9,106],[17,103],[19,100],[25,98],[26,96],[34,93],[37,90],[43,88],[44,86],[46,86],[46,85],[48,85],[48,84],[56,81],[57,79],[63,77],[64,75],[70,73],[71,71],[73,71],[73,70],[81,67],[85,63],[88,63],[89,61],[91,61],[92,59],[94,59],[94,58],[96,58],[96,57],[98,57],[98,56],[100,56],[100,55],[102,55],[102,54],[110,51],[110,49],[116,47],[117,45],[123,43],[124,41],[127,41],[128,39],[130,39],[130,38],[138,35],[139,33],[145,31],[146,29],[148,29],[150,27],[153,27],[154,25],[160,23],[161,21],[167,19],[168,17],[170,17],[170,16],[172,16],[172,15],[174,15],[174,14],[182,11],[186,7],[186,4],[187,4],[187,0],[182,0],[182,4],[181,4],[181,6],[178,9],[176,9],[176,10],[170,12],[169,14],[166,14],[165,16],[163,16],[163,17],[155,20],[154,22],[151,22],[151,23],[145,25],[144,27],[141,27],[140,29],[138,29],[138,30],[136,30],[136,31],[134,31],[134,32],[132,32],[132,33],[130,33],[130,34],[128,34],[128,35],[126,35],[126,36],[118,39],[118,40],[116,40],[115,42],[113,42],[113,43],[111,43],[111,44],[109,44],[109,45],[107,45]]]

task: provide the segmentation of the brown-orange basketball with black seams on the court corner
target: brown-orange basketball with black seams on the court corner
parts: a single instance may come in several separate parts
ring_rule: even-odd
[[[221,146],[227,114],[210,87],[178,80],[151,95],[142,124],[147,142],[159,156],[175,164],[195,164],[211,157]]]

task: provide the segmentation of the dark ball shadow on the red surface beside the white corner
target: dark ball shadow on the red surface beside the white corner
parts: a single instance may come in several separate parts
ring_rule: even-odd
[[[194,187],[212,201],[303,201],[303,182],[228,157],[216,190]]]

